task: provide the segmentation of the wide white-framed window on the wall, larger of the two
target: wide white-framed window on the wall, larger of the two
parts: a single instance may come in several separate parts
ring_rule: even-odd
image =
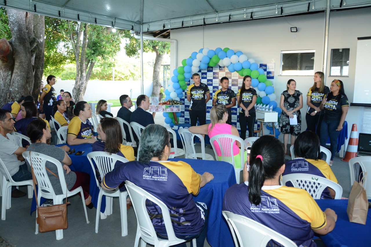
[[[281,51],[280,75],[313,75],[316,50]]]

